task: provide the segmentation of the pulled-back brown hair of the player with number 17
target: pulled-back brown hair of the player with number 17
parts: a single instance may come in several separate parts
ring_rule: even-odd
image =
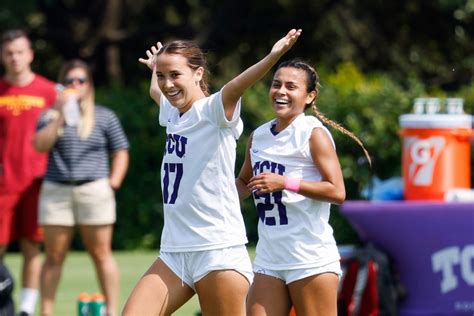
[[[181,55],[188,61],[189,68],[196,70],[199,67],[204,69],[203,76],[199,82],[199,87],[205,96],[209,96],[209,84],[207,79],[207,63],[203,51],[194,42],[185,40],[175,40],[164,45],[157,55],[173,54]]]

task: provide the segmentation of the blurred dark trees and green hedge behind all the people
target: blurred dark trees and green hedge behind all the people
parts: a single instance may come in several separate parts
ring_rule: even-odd
[[[149,71],[137,59],[157,41],[194,39],[207,54],[211,91],[270,51],[291,28],[303,35],[283,59],[301,57],[321,77],[318,106],[358,135],[373,159],[333,131],[347,198],[372,176],[401,175],[398,117],[420,96],[462,97],[474,108],[474,0],[2,0],[0,30],[31,36],[33,69],[54,80],[62,62],[94,69],[97,101],[116,111],[131,142],[131,165],[117,193],[115,249],[156,248],[163,225],[159,169],[164,130],[148,96]],[[272,118],[271,74],[246,92],[236,172],[250,132]],[[472,165],[472,164],[471,164]],[[253,202],[243,204],[251,243]],[[338,243],[358,236],[333,207]],[[80,247],[80,245],[76,245]]]

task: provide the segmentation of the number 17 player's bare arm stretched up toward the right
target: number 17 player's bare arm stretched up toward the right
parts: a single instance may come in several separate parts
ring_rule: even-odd
[[[272,50],[262,60],[247,68],[240,75],[228,82],[222,91],[222,101],[227,119],[232,119],[237,101],[245,90],[262,78],[298,40],[301,29],[292,29],[273,45]]]

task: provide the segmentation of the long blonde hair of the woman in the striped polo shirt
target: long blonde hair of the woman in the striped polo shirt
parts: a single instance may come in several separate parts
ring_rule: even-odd
[[[77,127],[77,134],[82,140],[84,140],[90,136],[95,124],[95,91],[94,81],[92,80],[92,71],[85,61],[73,59],[63,64],[61,70],[59,71],[58,80],[60,83],[63,83],[68,72],[75,68],[84,69],[87,75],[87,81],[89,83],[89,89],[86,95],[80,101],[81,120],[79,121],[79,125]]]

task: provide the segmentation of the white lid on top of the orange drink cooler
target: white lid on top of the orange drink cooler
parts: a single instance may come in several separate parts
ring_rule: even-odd
[[[399,117],[402,128],[472,128],[469,114],[403,114]]]

